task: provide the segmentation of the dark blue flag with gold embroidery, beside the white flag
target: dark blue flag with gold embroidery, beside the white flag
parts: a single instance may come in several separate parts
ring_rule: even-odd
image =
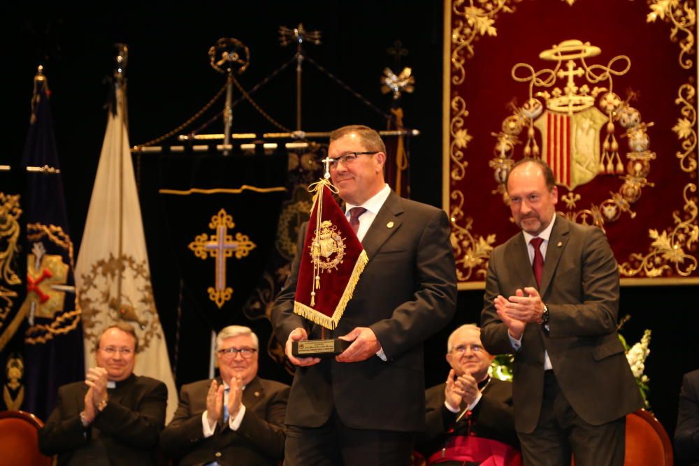
[[[48,97],[40,68],[22,155],[22,166],[27,168],[27,297],[20,314],[26,321],[24,409],[44,420],[55,405],[58,387],[85,378],[73,241]]]

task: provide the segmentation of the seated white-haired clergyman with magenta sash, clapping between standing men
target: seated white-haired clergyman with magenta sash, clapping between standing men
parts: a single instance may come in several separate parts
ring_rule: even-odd
[[[417,445],[428,464],[521,465],[512,412],[512,384],[488,375],[493,356],[480,328],[463,325],[449,335],[447,382],[426,392],[427,424]],[[491,463],[492,462],[492,463]]]

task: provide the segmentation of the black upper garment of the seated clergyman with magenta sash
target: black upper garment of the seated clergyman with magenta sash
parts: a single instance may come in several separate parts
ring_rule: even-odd
[[[448,439],[454,435],[468,435],[468,420],[461,418],[456,423],[457,413],[445,407],[444,389],[446,384],[433,386],[426,391],[427,410],[425,422],[427,428],[419,435],[419,451],[429,458],[444,448]],[[471,415],[470,433],[485,439],[498,440],[519,449],[517,432],[514,430],[514,413],[512,412],[512,384],[491,379],[482,390],[482,397],[475,405]],[[463,406],[462,409],[466,409]]]

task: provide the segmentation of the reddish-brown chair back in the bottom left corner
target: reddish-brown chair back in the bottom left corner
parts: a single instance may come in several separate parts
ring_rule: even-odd
[[[0,466],[51,466],[50,456],[39,451],[41,419],[24,411],[0,412]]]

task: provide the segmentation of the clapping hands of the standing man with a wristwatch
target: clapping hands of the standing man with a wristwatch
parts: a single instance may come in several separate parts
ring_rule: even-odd
[[[526,295],[528,296],[525,296]],[[527,323],[541,323],[544,313],[544,303],[539,296],[539,292],[533,286],[526,286],[524,290],[517,289],[514,296],[505,298],[498,295],[493,300],[496,312],[502,319],[510,335],[519,340],[524,333],[524,326]]]

